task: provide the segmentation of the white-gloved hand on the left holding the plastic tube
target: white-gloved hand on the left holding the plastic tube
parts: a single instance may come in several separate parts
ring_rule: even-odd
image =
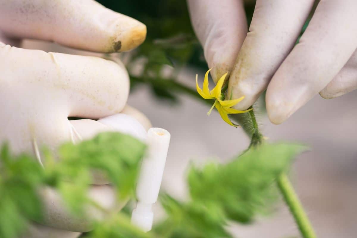
[[[5,35],[113,52],[140,45],[146,26],[93,0],[0,0],[0,41],[10,42]],[[146,136],[150,122],[126,106],[129,76],[121,62],[25,50],[2,42],[0,144],[8,141],[13,152],[33,153],[42,163],[39,148],[44,145],[56,150],[65,141],[78,142],[108,130]],[[18,42],[12,40],[11,44]],[[69,121],[69,116],[105,118]],[[105,208],[121,208],[123,204],[116,203],[107,181],[98,178],[94,183],[99,185],[90,189],[91,198]],[[44,188],[41,195],[45,226],[34,223],[24,237],[77,237],[79,232],[91,229],[88,221],[70,216],[55,191]],[[102,216],[91,209],[89,215]]]

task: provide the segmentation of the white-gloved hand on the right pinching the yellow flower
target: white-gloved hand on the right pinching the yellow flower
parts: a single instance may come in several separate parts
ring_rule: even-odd
[[[230,71],[228,95],[245,96],[236,109],[267,88],[268,116],[279,124],[319,92],[357,88],[356,0],[321,0],[296,46],[314,0],[257,0],[248,34],[241,1],[187,2],[213,80]]]

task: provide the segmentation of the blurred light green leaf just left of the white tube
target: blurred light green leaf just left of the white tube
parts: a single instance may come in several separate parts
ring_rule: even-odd
[[[125,198],[134,194],[145,149],[145,144],[132,136],[117,132],[101,133],[78,145],[62,145],[59,155],[65,163],[61,163],[59,168],[67,173],[66,176],[70,175],[72,181],[84,176],[79,173],[81,168],[101,171],[120,191],[121,198]]]

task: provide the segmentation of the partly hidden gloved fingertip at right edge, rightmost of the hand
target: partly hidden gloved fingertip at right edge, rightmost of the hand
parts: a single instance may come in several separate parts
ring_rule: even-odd
[[[342,70],[320,92],[321,97],[331,99],[357,89],[357,51],[353,53]]]

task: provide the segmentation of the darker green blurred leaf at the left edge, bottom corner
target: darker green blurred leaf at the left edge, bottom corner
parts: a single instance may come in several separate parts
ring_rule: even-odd
[[[0,237],[13,238],[26,220],[42,218],[37,188],[43,182],[40,164],[27,155],[13,156],[7,144],[0,152]]]

